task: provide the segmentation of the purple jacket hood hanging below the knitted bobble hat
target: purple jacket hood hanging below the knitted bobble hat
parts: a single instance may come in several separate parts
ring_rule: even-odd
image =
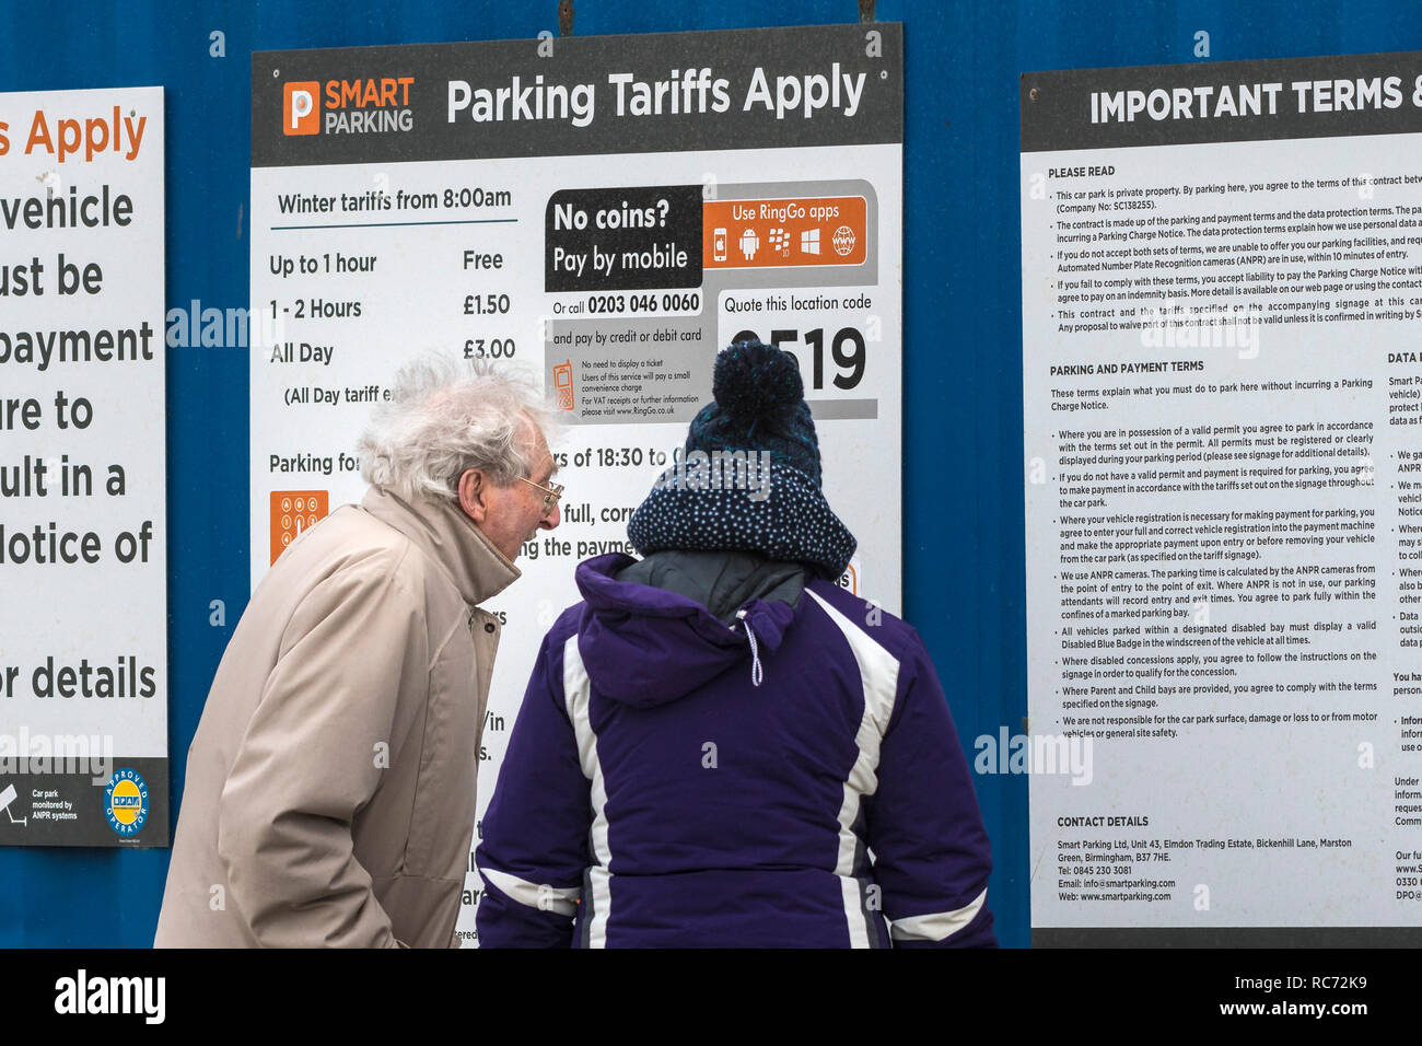
[[[749,680],[755,660],[774,653],[795,620],[795,605],[784,596],[792,592],[798,605],[801,588],[786,585],[781,574],[762,574],[759,583],[748,578],[741,592],[727,585],[724,572],[718,575],[721,583],[710,586],[710,602],[724,602],[727,595],[747,596],[727,623],[681,592],[624,579],[629,568],[638,568],[630,576],[654,576],[640,569],[646,562],[613,552],[579,564],[576,572],[586,602],[577,650],[593,686],[623,704],[667,704],[732,667],[745,672]],[[710,559],[701,564],[708,565]],[[685,583],[681,589],[690,591]]]

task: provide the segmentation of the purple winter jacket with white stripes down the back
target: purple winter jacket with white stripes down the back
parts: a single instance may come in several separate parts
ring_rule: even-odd
[[[481,946],[995,945],[919,633],[803,576],[727,623],[619,579],[634,562],[580,564],[539,650],[475,855]]]

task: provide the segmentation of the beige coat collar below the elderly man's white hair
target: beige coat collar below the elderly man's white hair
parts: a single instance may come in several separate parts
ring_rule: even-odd
[[[449,576],[469,606],[498,595],[520,575],[452,501],[404,501],[384,487],[371,487],[361,508],[415,542]]]

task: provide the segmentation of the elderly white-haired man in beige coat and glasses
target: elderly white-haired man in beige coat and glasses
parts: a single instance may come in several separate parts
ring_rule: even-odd
[[[158,946],[448,946],[499,622],[559,524],[532,393],[421,363],[361,437],[371,490],[266,575],[188,753]]]

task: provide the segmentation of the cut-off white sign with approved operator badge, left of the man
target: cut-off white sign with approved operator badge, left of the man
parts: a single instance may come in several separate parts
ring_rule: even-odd
[[[0,94],[0,845],[168,845],[162,88]]]

